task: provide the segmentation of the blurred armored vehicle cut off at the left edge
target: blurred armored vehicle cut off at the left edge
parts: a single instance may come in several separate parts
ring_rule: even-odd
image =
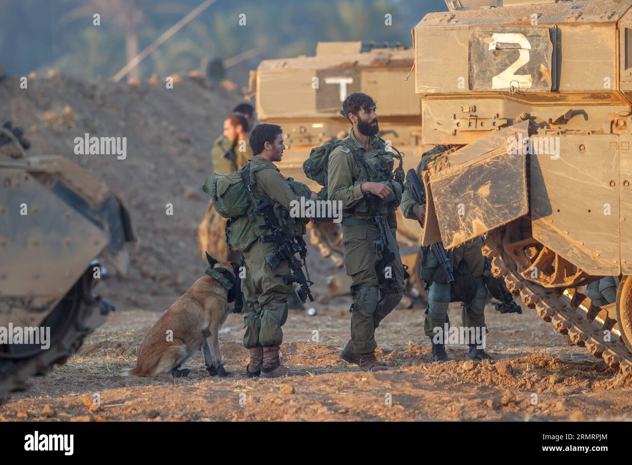
[[[79,349],[112,304],[93,292],[99,257],[124,274],[130,216],[107,186],[62,156],[27,156],[0,127],[0,402]]]

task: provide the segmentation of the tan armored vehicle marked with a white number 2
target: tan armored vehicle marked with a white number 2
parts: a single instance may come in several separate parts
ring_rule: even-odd
[[[451,0],[413,29],[430,164],[423,244],[487,234],[492,272],[632,373],[632,4]],[[619,282],[597,306],[584,287]]]

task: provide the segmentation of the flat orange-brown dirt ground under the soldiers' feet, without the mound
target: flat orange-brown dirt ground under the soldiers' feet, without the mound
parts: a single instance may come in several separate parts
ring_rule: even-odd
[[[348,297],[317,291],[318,313],[291,311],[282,357],[304,376],[252,380],[245,376],[242,318],[230,314],[220,337],[227,378],[211,377],[202,354],[189,378],[119,376],[135,366],[143,336],[169,305],[119,309],[64,366],[34,378],[28,392],[0,407],[9,421],[169,420],[629,420],[632,386],[603,361],[566,344],[535,311],[501,315],[487,308],[494,363],[465,363],[466,346],[453,358],[430,363],[421,307],[396,310],[378,330],[378,355],[389,371],[370,374],[338,359],[349,337]],[[142,297],[142,296],[141,296]],[[177,296],[174,295],[174,299]],[[454,324],[459,307],[451,307]],[[509,367],[497,368],[499,362]],[[501,374],[502,373],[502,374]],[[99,394],[100,406],[92,407]],[[47,407],[49,404],[49,407]],[[44,413],[42,413],[44,411]]]

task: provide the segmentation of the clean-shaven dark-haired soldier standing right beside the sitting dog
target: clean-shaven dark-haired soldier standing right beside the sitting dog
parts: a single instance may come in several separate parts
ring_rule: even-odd
[[[292,374],[281,364],[279,347],[293,281],[300,285],[301,299],[311,297],[294,253],[307,254],[302,235],[309,219],[292,218],[289,212],[294,202],[316,201],[319,196],[306,185],[284,178],[274,165],[285,149],[281,127],[257,125],[250,133],[250,147],[253,156],[238,171],[250,205],[245,214],[228,221],[226,242],[229,248],[243,251],[242,290],[248,304],[243,345],[250,350],[246,374],[274,378]]]

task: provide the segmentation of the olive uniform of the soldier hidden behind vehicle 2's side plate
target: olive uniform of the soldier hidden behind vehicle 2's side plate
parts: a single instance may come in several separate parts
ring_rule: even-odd
[[[423,154],[422,159],[416,168],[416,173],[420,182],[422,182],[422,171],[427,170],[428,164],[440,156],[442,152],[444,152],[443,147],[434,147]],[[411,194],[410,187],[407,183],[404,183],[404,192],[401,201],[401,211],[404,217],[414,220],[418,219],[416,213],[418,207],[419,204],[415,201],[415,198]],[[485,257],[483,257],[481,252],[482,245],[482,238],[477,237],[449,251],[448,257],[452,260],[452,266],[455,273],[459,273],[459,271],[463,272],[462,275],[467,275],[468,272],[471,273],[471,277],[473,278],[472,290],[475,286],[475,292],[472,292],[473,298],[468,302],[463,302],[463,309],[461,311],[463,326],[468,328],[482,328],[482,331],[487,331],[485,325],[485,302],[487,301],[487,288],[485,287],[485,279],[483,278],[483,272],[485,271]],[[428,309],[423,323],[425,335],[430,337],[432,340],[435,335],[434,328],[441,328],[443,331],[444,325],[446,323],[449,325],[447,307],[449,302],[453,299],[454,289],[449,283],[447,283],[443,270],[437,262],[437,257],[432,252],[432,248],[424,248],[421,265],[421,278],[432,282],[430,290],[428,291]],[[470,347],[474,344],[474,342],[475,341],[470,340]],[[433,349],[435,349],[434,345]],[[442,346],[441,350],[444,351]],[[483,356],[480,352],[478,352],[478,356],[483,358],[489,357],[487,354]]]

